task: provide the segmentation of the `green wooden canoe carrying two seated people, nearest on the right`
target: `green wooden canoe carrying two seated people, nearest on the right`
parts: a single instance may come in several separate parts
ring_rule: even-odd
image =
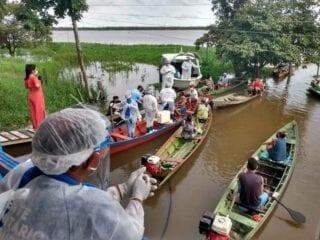
[[[289,183],[290,177],[293,173],[294,166],[297,158],[297,147],[299,142],[298,126],[295,121],[287,124],[279,131],[285,131],[287,133],[287,149],[292,160],[289,165],[283,165],[273,161],[259,160],[259,168],[257,173],[263,176],[267,180],[267,187],[271,192],[277,192],[278,198],[281,198]],[[276,133],[272,135],[267,141],[271,141],[276,137]],[[254,154],[253,157],[258,157],[259,153],[265,150],[266,146],[262,145]],[[259,229],[263,226],[265,221],[270,217],[272,211],[277,205],[277,202],[270,199],[265,205],[264,210],[259,211],[261,216],[260,221],[254,221],[252,215],[244,213],[240,209],[240,206],[235,203],[232,204],[234,194],[238,189],[238,175],[246,170],[246,164],[239,171],[237,176],[234,177],[231,184],[228,186],[226,192],[223,194],[216,209],[213,212],[213,216],[216,214],[222,216],[229,216],[232,221],[232,239],[251,239]],[[257,214],[257,213],[255,213]]]

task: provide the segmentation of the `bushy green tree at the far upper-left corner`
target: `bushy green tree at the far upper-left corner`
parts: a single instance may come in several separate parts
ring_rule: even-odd
[[[23,6],[20,3],[5,3],[2,7],[2,20],[0,20],[0,47],[6,48],[11,56],[16,49],[39,42],[47,41],[51,31],[42,20],[36,16],[29,16],[29,21],[22,19]]]

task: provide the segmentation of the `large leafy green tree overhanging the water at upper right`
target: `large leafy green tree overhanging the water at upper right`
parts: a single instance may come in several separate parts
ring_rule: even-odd
[[[222,58],[232,62],[236,75],[241,71],[260,75],[267,64],[299,62],[314,50],[315,1],[213,3],[219,21],[197,44],[214,45]]]

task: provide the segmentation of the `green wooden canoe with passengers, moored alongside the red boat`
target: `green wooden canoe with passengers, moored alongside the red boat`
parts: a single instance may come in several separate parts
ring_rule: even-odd
[[[185,140],[181,138],[182,127],[180,127],[154,154],[160,157],[161,164],[171,164],[173,168],[167,170],[164,176],[156,177],[159,185],[162,187],[181,167],[189,160],[193,154],[199,149],[206,139],[212,123],[212,112],[209,113],[208,120],[201,124],[197,123],[197,128],[202,130],[202,134],[198,134],[195,139]]]

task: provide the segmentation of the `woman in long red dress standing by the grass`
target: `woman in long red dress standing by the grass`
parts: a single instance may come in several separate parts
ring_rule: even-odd
[[[29,113],[33,129],[38,129],[46,116],[44,96],[41,81],[37,77],[37,69],[33,64],[26,65],[25,87],[28,92]]]

